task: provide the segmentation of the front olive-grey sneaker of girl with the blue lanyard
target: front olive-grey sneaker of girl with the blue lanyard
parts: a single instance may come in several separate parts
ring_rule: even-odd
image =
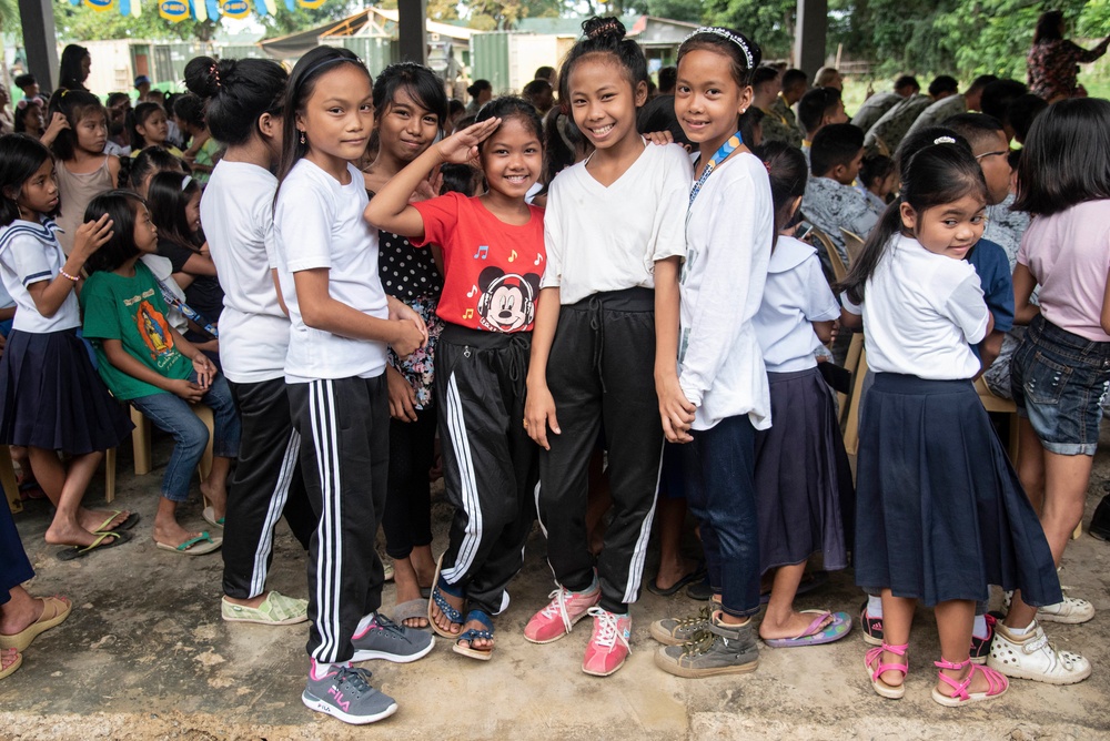
[[[751,621],[726,626],[717,619],[685,646],[666,646],[655,654],[655,666],[677,677],[744,674],[759,666],[759,649]]]

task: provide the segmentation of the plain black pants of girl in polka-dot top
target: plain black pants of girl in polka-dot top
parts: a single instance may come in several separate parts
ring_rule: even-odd
[[[432,542],[432,483],[435,410],[417,409],[416,422],[390,419],[390,483],[385,495],[385,552],[408,558]]]

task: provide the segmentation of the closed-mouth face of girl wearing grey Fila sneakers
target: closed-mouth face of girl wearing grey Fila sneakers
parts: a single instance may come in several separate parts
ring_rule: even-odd
[[[309,144],[305,156],[329,172],[342,172],[347,162],[361,158],[374,128],[366,70],[343,62],[321,74],[296,114],[296,128]]]

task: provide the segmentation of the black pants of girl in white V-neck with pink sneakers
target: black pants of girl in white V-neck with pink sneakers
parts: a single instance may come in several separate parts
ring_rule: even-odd
[[[594,579],[586,532],[589,457],[604,422],[613,521],[597,557],[601,607],[623,615],[639,597],[663,460],[655,393],[655,292],[594,294],[559,308],[547,387],[562,434],[539,450],[539,521],[555,579],[572,591]]]

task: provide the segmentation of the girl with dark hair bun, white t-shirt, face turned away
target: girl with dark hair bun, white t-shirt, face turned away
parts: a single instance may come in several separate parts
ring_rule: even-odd
[[[224,517],[221,612],[228,621],[270,626],[303,622],[309,607],[266,589],[278,519],[285,516],[304,548],[314,526],[285,395],[290,323],[272,267],[278,179],[270,171],[281,154],[287,77],[261,59],[198,57],[185,65],[212,135],[226,145],[200,205],[223,290],[220,363],[242,420]]]

